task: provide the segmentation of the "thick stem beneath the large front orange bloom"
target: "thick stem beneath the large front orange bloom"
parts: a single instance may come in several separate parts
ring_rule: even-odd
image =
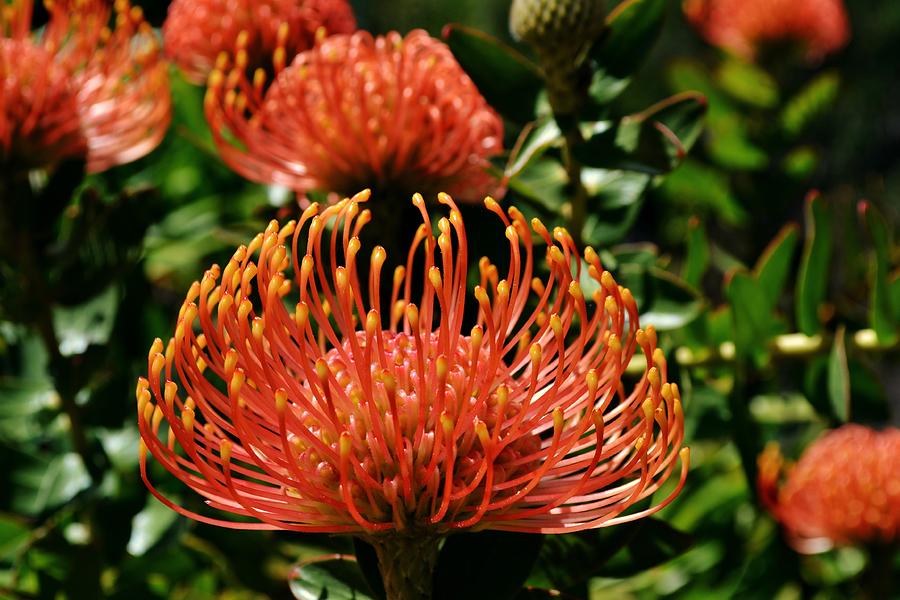
[[[388,600],[431,600],[440,538],[393,535],[371,543]]]

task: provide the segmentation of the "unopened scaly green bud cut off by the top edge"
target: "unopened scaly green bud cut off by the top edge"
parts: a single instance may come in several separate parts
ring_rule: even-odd
[[[603,2],[513,0],[509,26],[542,56],[571,59],[603,30]]]

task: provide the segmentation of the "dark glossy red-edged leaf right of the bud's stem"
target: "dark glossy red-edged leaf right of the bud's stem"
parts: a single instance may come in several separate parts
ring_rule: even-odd
[[[588,167],[667,173],[684,160],[703,128],[706,98],[683,92],[646,110],[624,117],[575,146],[575,156]]]

